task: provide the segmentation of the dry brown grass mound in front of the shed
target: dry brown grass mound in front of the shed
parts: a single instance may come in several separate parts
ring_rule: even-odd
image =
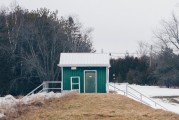
[[[152,109],[116,94],[71,94],[21,106],[16,120],[179,120],[179,115]],[[20,112],[20,111],[19,111]]]

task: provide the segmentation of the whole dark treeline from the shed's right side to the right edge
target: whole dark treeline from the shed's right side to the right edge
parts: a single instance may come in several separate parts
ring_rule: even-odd
[[[151,61],[150,61],[151,60]],[[151,59],[148,56],[111,59],[110,81],[141,85],[179,87],[179,55],[164,48]]]

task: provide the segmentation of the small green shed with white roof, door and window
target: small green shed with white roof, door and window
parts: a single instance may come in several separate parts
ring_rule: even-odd
[[[61,53],[62,90],[80,93],[109,92],[109,54]]]

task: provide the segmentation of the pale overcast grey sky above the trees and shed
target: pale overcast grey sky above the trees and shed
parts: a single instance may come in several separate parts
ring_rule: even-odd
[[[93,44],[100,52],[134,53],[138,41],[151,41],[162,19],[179,10],[179,0],[16,0],[27,9],[47,7],[59,16],[76,15],[94,28]],[[9,6],[12,0],[0,0]],[[179,11],[178,11],[179,13]]]

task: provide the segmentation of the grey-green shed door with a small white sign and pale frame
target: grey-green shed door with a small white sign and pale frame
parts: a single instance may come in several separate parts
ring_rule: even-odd
[[[85,71],[85,93],[96,92],[96,71]]]

